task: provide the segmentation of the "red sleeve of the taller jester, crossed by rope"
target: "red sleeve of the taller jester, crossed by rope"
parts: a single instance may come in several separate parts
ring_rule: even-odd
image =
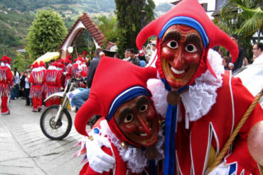
[[[232,78],[232,92],[234,98],[235,106],[235,125],[240,121],[242,115],[247,111],[252,101],[254,101],[254,96],[242,85],[240,79]],[[229,157],[226,158],[227,163],[237,162],[238,171],[242,169],[248,170],[252,174],[258,173],[257,163],[249,154],[247,148],[247,135],[249,130],[253,125],[259,121],[263,120],[263,110],[262,107],[257,103],[254,111],[249,115],[245,124],[242,126],[237,138],[233,144],[233,151]],[[262,143],[263,144],[263,143]]]

